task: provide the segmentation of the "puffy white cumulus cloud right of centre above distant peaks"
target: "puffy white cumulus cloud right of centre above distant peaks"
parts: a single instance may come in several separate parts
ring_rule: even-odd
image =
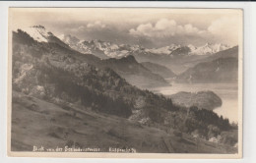
[[[153,24],[142,24],[136,28],[131,28],[129,33],[137,36],[168,37],[173,35],[194,35],[203,34],[207,31],[194,27],[191,24],[178,25],[174,20],[160,19]]]

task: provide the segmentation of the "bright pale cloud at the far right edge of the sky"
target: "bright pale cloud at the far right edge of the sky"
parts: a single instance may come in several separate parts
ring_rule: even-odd
[[[238,42],[239,27],[239,17],[230,16],[213,21],[208,31],[219,40],[235,45]]]

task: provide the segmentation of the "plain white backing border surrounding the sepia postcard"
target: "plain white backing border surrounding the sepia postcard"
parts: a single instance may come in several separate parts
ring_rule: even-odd
[[[243,159],[238,160],[149,160],[149,159],[74,159],[74,158],[17,158],[7,157],[7,54],[8,54],[8,8],[9,7],[190,7],[190,8],[241,8],[244,10],[244,107],[243,107]],[[0,162],[256,162],[256,4],[245,2],[0,2]],[[254,21],[254,22],[253,22]],[[252,30],[254,29],[254,30]],[[255,43],[254,43],[255,44]]]

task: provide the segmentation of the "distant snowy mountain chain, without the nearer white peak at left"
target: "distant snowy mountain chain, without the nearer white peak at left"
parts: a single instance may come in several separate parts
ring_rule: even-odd
[[[128,55],[211,55],[219,51],[230,48],[224,44],[210,44],[196,47],[192,44],[177,45],[170,44],[160,48],[144,48],[140,45],[129,44],[115,44],[112,42],[102,40],[79,40],[75,36],[60,35],[59,38],[67,43],[71,48],[76,49],[82,53],[95,54],[97,57],[105,58],[121,58]]]

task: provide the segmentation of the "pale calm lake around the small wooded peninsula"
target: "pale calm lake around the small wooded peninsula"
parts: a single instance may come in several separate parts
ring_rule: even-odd
[[[163,95],[175,94],[179,91],[198,92],[212,90],[223,100],[223,105],[214,112],[228,118],[229,122],[238,121],[238,86],[236,83],[171,83],[172,86],[150,89]]]

